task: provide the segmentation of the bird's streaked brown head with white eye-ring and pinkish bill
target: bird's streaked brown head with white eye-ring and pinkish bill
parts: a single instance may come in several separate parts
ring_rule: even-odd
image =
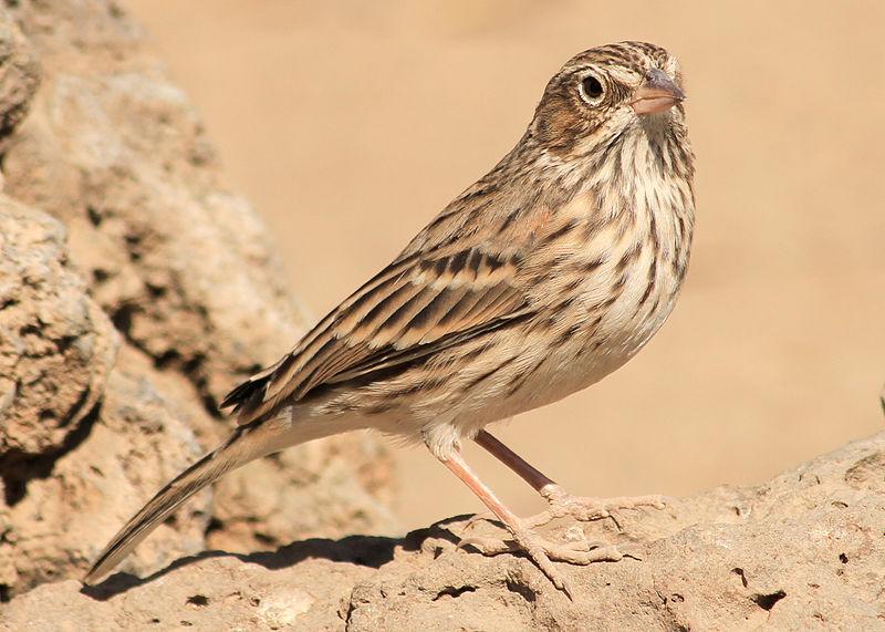
[[[676,58],[660,46],[620,42],[584,51],[548,83],[530,127],[558,155],[586,155],[624,132],[683,129],[685,93]]]

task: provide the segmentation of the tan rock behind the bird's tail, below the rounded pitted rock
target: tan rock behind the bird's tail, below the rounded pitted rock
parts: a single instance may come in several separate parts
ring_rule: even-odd
[[[21,489],[0,504],[0,584],[15,594],[59,577],[79,577],[119,526],[201,453],[187,406],[150,383],[149,363],[123,348],[94,410],[61,454],[29,463]],[[10,491],[19,491],[14,497]],[[150,572],[205,546],[210,495],[162,525],[127,568]]]

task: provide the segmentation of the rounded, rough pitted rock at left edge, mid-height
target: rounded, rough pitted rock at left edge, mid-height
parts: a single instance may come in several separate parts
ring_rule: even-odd
[[[0,195],[0,474],[63,449],[101,396],[118,336],[55,219]],[[14,467],[13,467],[14,466]],[[18,470],[18,472],[13,472]]]

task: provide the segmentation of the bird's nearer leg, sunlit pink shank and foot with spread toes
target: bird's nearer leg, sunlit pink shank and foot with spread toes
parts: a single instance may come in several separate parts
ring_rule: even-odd
[[[538,564],[543,573],[550,578],[558,589],[564,591],[571,599],[572,593],[565,583],[564,578],[553,566],[551,560],[564,561],[573,564],[589,564],[594,561],[617,561],[623,555],[613,547],[592,547],[586,542],[570,542],[556,545],[544,540],[531,529],[531,525],[520,519],[513,514],[494,493],[470,469],[464,460],[460,452],[455,449],[446,457],[438,457],[455,476],[460,478],[470,490],[482,500],[483,505],[503,522],[510,535],[512,542],[506,542],[492,538],[470,538],[462,540],[459,546],[470,545],[487,556],[503,552],[524,551],[531,560]]]

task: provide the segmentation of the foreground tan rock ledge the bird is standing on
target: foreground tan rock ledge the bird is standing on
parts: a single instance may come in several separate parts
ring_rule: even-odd
[[[885,433],[758,487],[584,525],[636,558],[559,564],[574,601],[525,558],[456,549],[465,519],[403,540],[351,537],[275,552],[221,551],[138,579],[44,584],[9,629],[194,625],[231,630],[872,630],[885,621]],[[552,537],[574,533],[574,525]]]

